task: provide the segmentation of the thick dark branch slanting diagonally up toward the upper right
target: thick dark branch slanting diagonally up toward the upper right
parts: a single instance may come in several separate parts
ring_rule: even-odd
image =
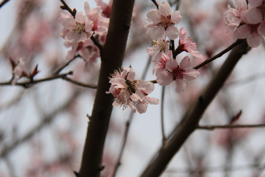
[[[180,126],[174,130],[168,142],[154,155],[141,177],[159,177],[174,154],[182,147],[188,136],[198,127],[199,120],[211,103],[214,96],[223,86],[233,68],[242,55],[248,51],[246,41],[235,47],[219,71],[212,78],[205,91],[198,97],[197,102],[187,109]]]

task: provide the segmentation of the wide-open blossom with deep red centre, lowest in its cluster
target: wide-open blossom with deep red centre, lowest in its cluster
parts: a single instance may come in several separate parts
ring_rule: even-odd
[[[165,65],[165,71],[157,75],[157,82],[161,86],[167,86],[171,82],[176,82],[176,92],[182,93],[186,87],[187,81],[196,79],[199,71],[191,69],[191,62],[186,56],[180,64],[175,59],[169,59]]]

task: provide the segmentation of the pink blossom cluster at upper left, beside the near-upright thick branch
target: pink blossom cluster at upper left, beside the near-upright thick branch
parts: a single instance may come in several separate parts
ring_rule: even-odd
[[[97,0],[97,2],[101,3],[102,1]],[[68,52],[67,59],[73,59],[76,53],[79,53],[86,63],[93,63],[95,58],[100,56],[100,51],[90,37],[95,34],[99,43],[105,42],[109,19],[103,16],[101,10],[101,6],[90,8],[85,2],[85,14],[78,11],[73,17],[67,12],[60,13],[59,21],[63,26],[61,36],[66,40],[65,46],[72,47],[72,50]],[[106,7],[103,10],[106,10]]]

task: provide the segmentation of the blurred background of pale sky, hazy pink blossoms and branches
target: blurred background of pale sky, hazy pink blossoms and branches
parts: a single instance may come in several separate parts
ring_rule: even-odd
[[[66,1],[84,13],[85,0]],[[108,1],[105,1],[108,4]],[[158,0],[162,3],[161,0]],[[169,0],[175,10],[178,0]],[[90,7],[97,3],[88,1]],[[233,2],[231,2],[233,3]],[[23,57],[25,71],[38,64],[34,79],[47,78],[68,62],[60,37],[62,26],[59,0],[9,0],[0,8],[0,177],[74,177],[78,171],[96,89],[77,86],[62,79],[40,82],[27,89],[4,85],[12,79],[12,65]],[[201,63],[233,43],[225,29],[227,0],[183,0],[178,6],[187,35],[197,44],[203,59],[187,53],[192,65]],[[146,49],[152,45],[146,36],[146,13],[156,6],[151,0],[136,0],[123,66],[130,65],[141,79],[155,80],[154,63]],[[175,40],[177,47],[178,39]],[[235,124],[265,123],[264,42],[239,60],[225,86],[217,94],[200,125],[229,124],[241,111]],[[118,49],[117,49],[118,50]],[[199,69],[198,79],[188,83],[184,93],[175,85],[165,89],[164,128],[166,135],[181,120],[187,107],[197,99],[228,54]],[[148,68],[146,69],[146,66]],[[100,59],[91,65],[77,58],[61,73],[73,71],[69,78],[97,84]],[[28,81],[21,78],[18,83]],[[150,97],[161,99],[156,84]],[[107,91],[107,90],[106,90]],[[107,134],[102,171],[112,177],[128,120],[129,135],[116,177],[138,177],[162,145],[160,105],[149,105],[145,114],[131,115],[114,107]],[[265,128],[197,129],[174,156],[162,177],[265,177]]]

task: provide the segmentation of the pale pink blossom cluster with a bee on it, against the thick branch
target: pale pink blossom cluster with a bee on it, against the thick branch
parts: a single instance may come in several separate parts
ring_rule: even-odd
[[[159,104],[158,98],[147,96],[154,90],[154,84],[149,81],[135,80],[135,72],[130,67],[123,67],[122,71],[116,70],[111,74],[109,83],[111,86],[106,93],[112,93],[114,96],[113,106],[122,106],[123,109],[129,106],[134,113],[137,110],[142,114],[146,112],[148,104]]]

